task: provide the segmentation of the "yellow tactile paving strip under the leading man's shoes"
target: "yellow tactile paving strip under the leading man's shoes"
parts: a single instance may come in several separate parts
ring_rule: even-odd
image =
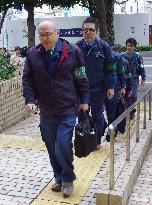
[[[104,146],[86,158],[74,158],[77,179],[74,182],[74,192],[71,197],[63,198],[61,193],[51,191],[50,182],[31,205],[78,205],[92,183],[101,165],[109,154],[109,147]]]

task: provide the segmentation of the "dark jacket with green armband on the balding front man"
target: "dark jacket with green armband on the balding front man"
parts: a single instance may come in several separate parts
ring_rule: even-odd
[[[88,103],[89,86],[80,49],[63,39],[59,41],[61,49],[55,48],[56,57],[50,57],[51,72],[42,45],[29,50],[23,71],[23,96],[26,104],[37,102],[46,116],[64,117],[77,113],[79,100]]]

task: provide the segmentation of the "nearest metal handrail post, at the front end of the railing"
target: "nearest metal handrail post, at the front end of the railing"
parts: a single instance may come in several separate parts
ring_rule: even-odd
[[[110,135],[110,173],[109,173],[109,189],[114,189],[114,129],[109,126],[108,133]]]

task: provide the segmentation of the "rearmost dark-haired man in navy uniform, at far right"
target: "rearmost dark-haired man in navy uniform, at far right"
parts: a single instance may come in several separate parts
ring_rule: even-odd
[[[137,89],[139,86],[139,76],[141,76],[141,86],[145,85],[146,73],[143,64],[142,56],[135,52],[137,41],[134,38],[126,40],[127,51],[122,54],[122,57],[128,61],[128,66],[132,74],[132,96],[128,98],[128,107],[130,107],[137,100]],[[135,116],[136,110],[133,109],[130,113],[130,119]]]

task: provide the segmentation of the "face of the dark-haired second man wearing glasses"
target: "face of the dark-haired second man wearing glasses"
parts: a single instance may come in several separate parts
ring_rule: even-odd
[[[97,35],[97,31],[94,23],[84,23],[83,25],[83,37],[88,43],[92,43]]]

